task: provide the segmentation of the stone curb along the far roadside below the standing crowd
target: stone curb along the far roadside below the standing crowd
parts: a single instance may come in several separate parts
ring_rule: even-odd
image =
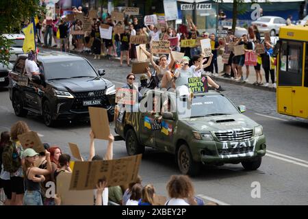
[[[49,49],[49,48],[42,48],[40,47],[40,49]],[[60,48],[55,48],[55,47],[52,47],[50,48],[51,50],[57,50],[57,51],[60,51]],[[84,52],[79,52],[79,51],[68,51],[66,53],[73,53],[73,54],[76,54],[76,55],[85,55],[85,56],[92,56],[88,53],[84,53]],[[105,57],[105,56],[101,56],[101,60],[117,60],[116,58],[114,57],[111,57],[110,59]],[[118,60],[117,60],[118,61]],[[224,83],[232,83],[232,84],[235,84],[236,86],[244,86],[244,87],[247,87],[247,88],[254,88],[254,89],[257,89],[257,90],[266,90],[266,91],[270,91],[270,92],[276,92],[276,88],[268,88],[268,87],[265,87],[265,86],[255,86],[253,85],[252,83],[246,83],[246,82],[240,82],[240,81],[233,81],[231,79],[227,79],[227,78],[224,78],[224,77],[216,77],[214,76],[213,74],[209,75],[211,78],[215,79],[216,81],[221,81],[221,82],[224,82]]]

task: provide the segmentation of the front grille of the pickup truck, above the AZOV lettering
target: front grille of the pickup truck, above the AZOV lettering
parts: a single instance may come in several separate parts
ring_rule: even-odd
[[[222,131],[216,132],[215,135],[220,142],[239,142],[251,139],[253,136],[253,129],[241,131]]]

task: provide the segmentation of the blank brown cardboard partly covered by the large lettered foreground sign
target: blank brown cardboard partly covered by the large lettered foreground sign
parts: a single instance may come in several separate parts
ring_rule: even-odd
[[[57,194],[61,197],[61,205],[93,205],[93,190],[69,190],[71,179],[71,172],[61,172],[57,176]]]

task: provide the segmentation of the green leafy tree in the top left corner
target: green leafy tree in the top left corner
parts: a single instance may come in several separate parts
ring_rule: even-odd
[[[2,34],[20,33],[22,25],[40,14],[42,7],[39,0],[1,0],[0,1],[0,60],[8,64],[12,42]]]

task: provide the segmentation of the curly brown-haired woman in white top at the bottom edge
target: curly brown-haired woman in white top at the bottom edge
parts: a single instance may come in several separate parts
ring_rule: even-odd
[[[170,199],[165,205],[197,205],[194,198],[194,185],[188,176],[172,175],[166,189]]]

